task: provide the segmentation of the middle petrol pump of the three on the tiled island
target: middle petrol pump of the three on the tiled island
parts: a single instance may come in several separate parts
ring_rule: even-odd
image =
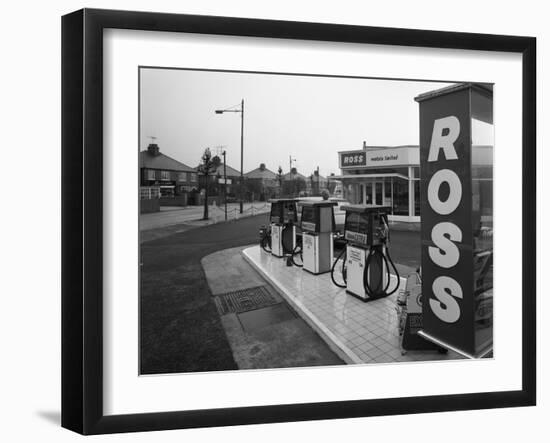
[[[336,202],[302,203],[303,269],[312,274],[329,272],[334,256],[334,206]]]

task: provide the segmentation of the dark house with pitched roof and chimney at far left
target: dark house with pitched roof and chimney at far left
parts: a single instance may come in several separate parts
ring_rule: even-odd
[[[196,190],[197,171],[160,152],[156,143],[139,153],[140,185],[158,188],[160,196],[173,197]]]

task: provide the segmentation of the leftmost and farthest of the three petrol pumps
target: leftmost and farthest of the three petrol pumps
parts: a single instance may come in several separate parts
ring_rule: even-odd
[[[276,257],[292,255],[296,248],[296,225],[298,221],[296,200],[273,199],[269,216],[271,230],[271,253]]]

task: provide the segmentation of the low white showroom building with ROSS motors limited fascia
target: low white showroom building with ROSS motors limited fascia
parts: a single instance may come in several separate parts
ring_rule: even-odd
[[[420,148],[367,146],[338,152],[343,197],[390,207],[390,220],[420,222]]]

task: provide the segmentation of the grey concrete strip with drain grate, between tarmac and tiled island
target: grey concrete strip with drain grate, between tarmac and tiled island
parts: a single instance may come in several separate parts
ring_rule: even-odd
[[[221,299],[239,296],[221,322],[239,369],[333,366],[344,362],[243,258],[243,247],[201,260],[210,291]],[[259,303],[253,297],[262,296]],[[235,312],[236,311],[236,312]]]

